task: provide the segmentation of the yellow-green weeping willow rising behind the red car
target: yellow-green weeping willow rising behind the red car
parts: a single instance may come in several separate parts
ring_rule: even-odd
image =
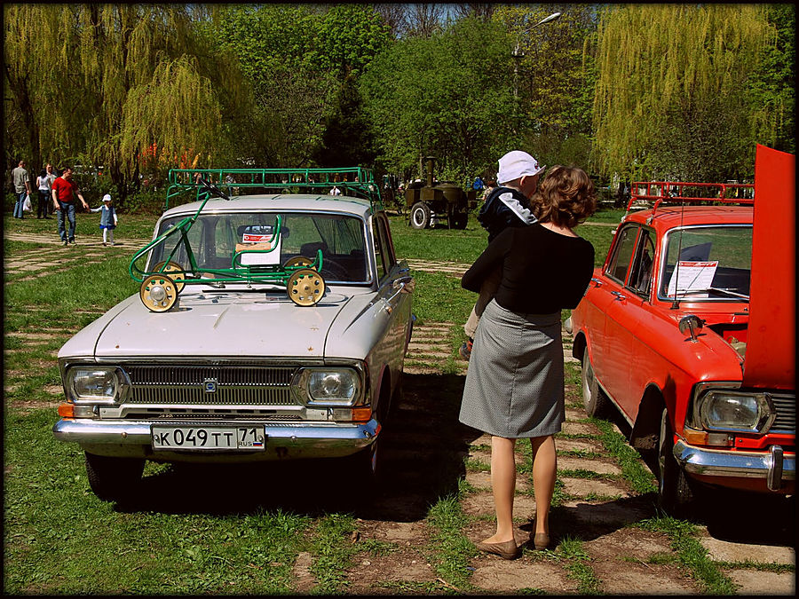
[[[749,79],[775,30],[752,4],[631,4],[597,32],[595,167],[623,178],[751,177],[776,135]]]

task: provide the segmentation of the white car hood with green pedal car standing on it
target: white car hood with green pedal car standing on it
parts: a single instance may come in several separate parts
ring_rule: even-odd
[[[93,331],[97,358],[196,356],[321,358],[328,331],[350,297],[328,293],[313,306],[285,295],[225,292],[184,294],[176,308],[151,312],[132,296],[109,311]],[[85,329],[84,329],[85,330]],[[92,332],[83,340],[91,340]],[[75,347],[81,344],[76,336]],[[85,351],[80,352],[85,355]],[[74,354],[73,354],[74,355]]]

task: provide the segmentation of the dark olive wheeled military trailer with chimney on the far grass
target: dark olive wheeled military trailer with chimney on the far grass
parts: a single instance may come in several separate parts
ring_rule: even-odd
[[[469,211],[477,206],[477,192],[464,192],[451,181],[433,181],[435,158],[428,156],[427,185],[415,181],[407,185],[405,204],[410,209],[408,225],[414,229],[427,229],[446,224],[450,229],[465,229]]]

